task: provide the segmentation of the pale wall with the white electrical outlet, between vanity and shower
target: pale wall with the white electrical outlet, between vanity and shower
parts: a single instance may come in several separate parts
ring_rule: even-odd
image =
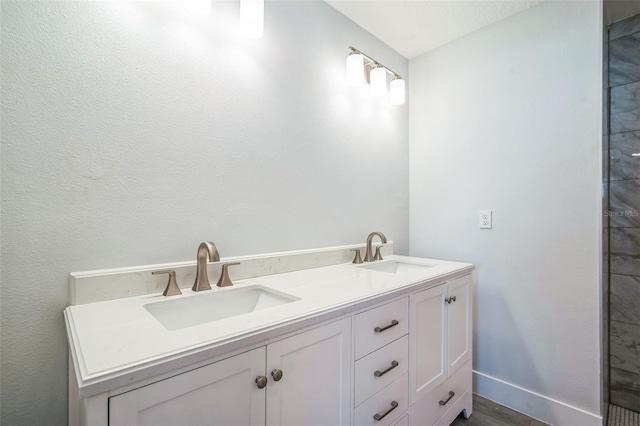
[[[477,265],[477,390],[557,425],[600,415],[601,36],[547,1],[410,61],[410,253]]]

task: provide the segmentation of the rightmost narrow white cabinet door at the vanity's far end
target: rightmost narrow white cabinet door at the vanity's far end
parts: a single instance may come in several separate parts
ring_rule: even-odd
[[[471,359],[471,276],[448,283],[448,376]]]

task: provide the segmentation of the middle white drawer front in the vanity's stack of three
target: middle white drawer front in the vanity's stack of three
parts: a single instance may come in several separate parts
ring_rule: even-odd
[[[409,337],[405,335],[356,361],[356,407],[408,371],[408,352]]]

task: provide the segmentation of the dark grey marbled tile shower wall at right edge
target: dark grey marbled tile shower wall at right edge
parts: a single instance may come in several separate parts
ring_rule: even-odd
[[[607,48],[609,399],[640,411],[640,15],[612,24]]]

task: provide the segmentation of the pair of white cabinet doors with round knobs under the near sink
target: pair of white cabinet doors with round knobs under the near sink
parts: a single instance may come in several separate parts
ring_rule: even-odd
[[[348,425],[350,343],[347,318],[143,386],[109,398],[109,425]]]

